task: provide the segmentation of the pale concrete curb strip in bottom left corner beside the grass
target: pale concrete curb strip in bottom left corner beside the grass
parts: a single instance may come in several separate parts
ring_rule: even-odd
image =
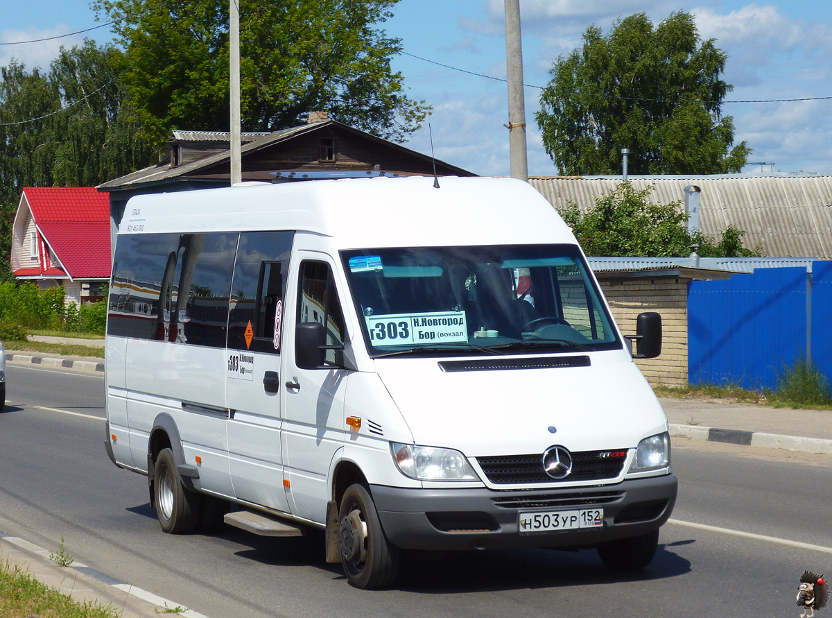
[[[89,566],[72,562],[58,566],[50,559],[51,552],[0,531],[0,559],[12,568],[20,568],[33,579],[62,592],[78,603],[92,602],[109,607],[121,618],[157,618],[160,614],[181,607],[152,592],[131,586],[96,571]],[[181,608],[178,616],[206,618],[199,612]]]

